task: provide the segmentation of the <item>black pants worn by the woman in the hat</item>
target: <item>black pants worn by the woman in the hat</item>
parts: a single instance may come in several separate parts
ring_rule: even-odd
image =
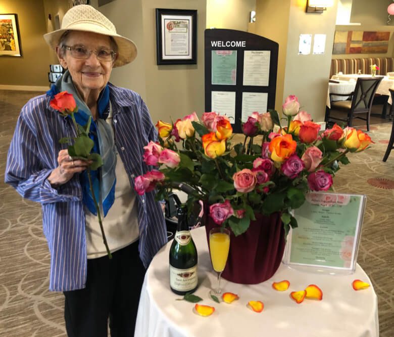
[[[87,260],[86,288],[64,291],[70,337],[133,337],[145,269],[138,241],[107,256]]]

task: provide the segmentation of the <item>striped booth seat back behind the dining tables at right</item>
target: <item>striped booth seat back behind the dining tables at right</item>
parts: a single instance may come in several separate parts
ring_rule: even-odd
[[[360,59],[332,59],[330,68],[330,78],[338,72],[343,74],[357,74],[361,70],[362,74],[371,73],[371,65],[376,64],[380,70],[376,75],[385,76],[387,72],[394,71],[393,57],[372,57]]]

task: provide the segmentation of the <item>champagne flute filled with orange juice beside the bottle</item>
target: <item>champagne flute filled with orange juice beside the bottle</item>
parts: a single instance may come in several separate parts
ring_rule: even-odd
[[[210,291],[211,295],[220,297],[222,289],[220,278],[226,266],[228,250],[230,248],[230,231],[222,227],[216,227],[209,232],[209,246],[213,269],[218,275],[218,287]]]

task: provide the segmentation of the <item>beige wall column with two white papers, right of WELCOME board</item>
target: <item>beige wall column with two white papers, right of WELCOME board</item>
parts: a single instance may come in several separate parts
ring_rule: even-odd
[[[322,14],[306,13],[306,0],[258,0],[256,33],[279,43],[276,109],[288,95],[299,98],[315,121],[324,119],[335,29],[336,2]],[[302,23],[302,24],[300,24]],[[298,55],[300,34],[326,34],[325,54]],[[313,40],[312,40],[313,43]],[[312,46],[313,47],[313,46]]]

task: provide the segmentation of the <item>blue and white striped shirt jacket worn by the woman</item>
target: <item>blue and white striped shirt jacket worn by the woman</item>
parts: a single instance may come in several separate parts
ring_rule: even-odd
[[[138,94],[109,86],[115,142],[134,187],[133,178],[149,170],[142,161],[143,146],[156,140],[157,131]],[[58,188],[46,179],[58,166],[59,151],[67,148],[59,139],[74,133],[70,118],[50,107],[50,99],[37,96],[22,108],[8,151],[5,182],[22,197],[41,203],[43,232],[51,252],[50,290],[66,291],[85,287],[85,214],[78,175]],[[147,267],[167,242],[165,221],[154,192],[137,194],[137,199],[139,252]]]

